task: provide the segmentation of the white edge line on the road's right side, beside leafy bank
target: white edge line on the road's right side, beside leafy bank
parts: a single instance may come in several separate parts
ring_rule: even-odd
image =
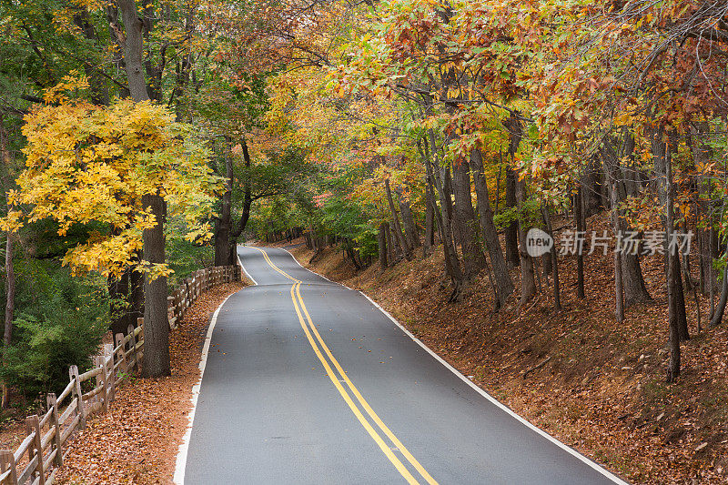
[[[290,255],[290,257],[293,258],[294,261],[296,261],[296,263],[298,263],[298,259],[296,259],[286,249],[283,249],[283,250],[286,251]],[[300,263],[298,263],[298,266],[300,266],[301,268],[304,268]],[[306,269],[310,273],[313,273],[314,275],[318,275],[319,277],[324,278],[327,281],[330,281],[331,283],[334,283],[329,278],[326,278],[325,276],[321,276],[321,275],[319,275],[319,273],[316,273],[315,271],[311,271],[308,268],[304,268],[304,269]],[[347,287],[346,285],[341,285],[340,283],[335,283],[335,284],[338,284],[338,285],[340,285],[340,286],[342,286],[344,288],[347,288],[347,289],[351,289],[351,288]],[[353,290],[353,291],[357,291],[357,290]],[[556,446],[558,446],[559,448],[561,448],[561,450],[564,450],[567,453],[571,454],[571,456],[573,456],[574,458],[576,458],[578,460],[581,460],[586,465],[590,466],[592,469],[599,471],[600,473],[602,473],[602,475],[604,477],[608,478],[609,480],[612,480],[614,483],[618,483],[619,485],[629,485],[628,482],[626,482],[626,481],[622,480],[621,478],[617,477],[611,471],[605,470],[598,463],[596,463],[595,461],[592,461],[589,458],[585,457],[579,451],[574,450],[573,448],[571,448],[570,446],[565,445],[564,443],[562,443],[559,440],[556,440],[554,437],[552,437],[549,433],[547,433],[543,429],[538,428],[537,426],[531,424],[531,422],[529,422],[528,420],[521,418],[521,416],[519,416],[518,414],[516,414],[515,412],[513,412],[512,409],[510,409],[505,404],[501,403],[501,401],[499,401],[498,399],[493,398],[492,396],[490,396],[490,394],[488,394],[483,389],[480,389],[480,387],[476,386],[473,381],[471,381],[470,379],[468,379],[465,376],[463,376],[460,373],[460,370],[455,369],[454,367],[452,367],[448,363],[447,360],[442,359],[438,354],[436,354],[434,351],[432,351],[432,349],[430,349],[428,346],[426,346],[424,343],[422,343],[422,341],[420,340],[420,338],[415,337],[410,332],[410,330],[408,330],[407,328],[404,328],[402,326],[402,324],[400,324],[399,321],[397,321],[396,318],[392,317],[389,314],[389,311],[387,311],[384,308],[381,308],[376,301],[374,301],[373,299],[369,298],[369,295],[367,295],[363,291],[358,291],[358,292],[361,294],[361,296],[363,296],[364,298],[367,298],[372,305],[374,305],[376,308],[379,308],[379,311],[381,311],[384,315],[386,315],[387,318],[389,318],[397,327],[399,327],[399,329],[401,329],[408,337],[410,337],[412,340],[414,340],[422,349],[425,349],[432,357],[434,357],[438,362],[440,362],[440,364],[442,364],[443,366],[445,366],[446,369],[449,369],[450,372],[452,372],[457,377],[459,377],[460,380],[462,380],[463,382],[465,382],[466,384],[468,384],[473,390],[475,390],[476,392],[478,392],[483,398],[488,399],[490,401],[490,403],[492,403],[493,405],[495,405],[497,408],[501,409],[506,414],[508,414],[509,416],[511,416],[511,418],[516,419],[522,425],[526,426],[528,429],[531,429],[532,431],[535,431],[536,433],[540,434],[543,438],[545,438],[546,440],[551,441],[551,443],[553,443]]]

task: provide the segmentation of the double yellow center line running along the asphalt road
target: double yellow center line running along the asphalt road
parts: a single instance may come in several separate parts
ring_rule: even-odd
[[[346,401],[349,409],[351,409],[351,412],[353,412],[354,416],[359,419],[361,426],[363,426],[364,429],[367,430],[372,440],[374,440],[377,445],[379,445],[379,449],[382,450],[382,452],[387,456],[389,461],[392,462],[394,467],[399,471],[399,473],[401,473],[402,477],[404,477],[405,480],[412,484],[420,483],[420,481],[412,476],[410,470],[408,470],[408,468],[402,463],[402,461],[399,460],[397,455],[394,454],[394,450],[399,450],[404,458],[410,462],[410,465],[420,473],[421,477],[427,483],[430,483],[430,485],[437,484],[437,481],[435,481],[430,476],[430,473],[428,473],[427,470],[425,470],[422,465],[420,465],[420,462],[412,456],[410,451],[405,448],[405,446],[402,444],[401,441],[399,441],[394,433],[392,433],[391,430],[387,428],[387,425],[385,425],[384,422],[379,419],[379,416],[377,416],[377,413],[374,412],[374,409],[371,409],[371,406],[369,406],[369,402],[367,402],[367,399],[364,399],[364,397],[359,392],[359,389],[357,389],[357,387],[354,386],[354,383],[351,382],[351,380],[347,376],[346,371],[339,364],[339,361],[334,358],[333,354],[331,354],[329,346],[326,345],[326,342],[324,342],[324,339],[321,338],[321,335],[319,334],[319,330],[311,321],[311,316],[308,315],[308,309],[306,309],[306,304],[303,302],[303,298],[301,298],[301,281],[288,275],[288,273],[273,264],[273,261],[268,258],[268,253],[266,253],[266,251],[260,248],[256,249],[258,249],[258,251],[263,254],[263,258],[266,259],[268,265],[270,265],[271,268],[278,271],[278,273],[280,273],[284,277],[293,281],[293,286],[290,288],[290,298],[291,300],[293,300],[293,307],[296,308],[298,322],[301,324],[301,328],[303,328],[303,331],[306,334],[306,338],[308,338],[308,343],[311,345],[311,349],[313,349],[313,351],[316,353],[316,356],[321,361],[324,369],[326,369],[326,373],[329,376],[329,379],[331,379],[331,382],[334,384],[336,389],[339,390],[339,394],[341,394],[341,397]],[[304,315],[306,316],[306,318],[304,318]],[[321,351],[321,349],[323,349],[323,352]],[[334,372],[334,370],[331,369],[331,364],[329,364],[329,360],[324,357],[324,354],[326,354],[326,356],[329,358],[331,364],[337,370],[337,372]],[[341,385],[342,380],[346,383],[349,390],[345,389],[344,386]],[[351,394],[349,394],[349,392]],[[359,409],[357,403],[354,402],[354,399],[351,398],[351,395],[353,395],[357,399],[361,409],[363,409],[364,412],[369,415],[369,419],[371,419],[377,425],[381,433],[389,439],[389,441],[393,445],[392,447],[390,447],[389,444],[381,437],[377,429],[375,429],[371,425],[371,423],[369,423],[369,419],[364,416],[361,409]]]

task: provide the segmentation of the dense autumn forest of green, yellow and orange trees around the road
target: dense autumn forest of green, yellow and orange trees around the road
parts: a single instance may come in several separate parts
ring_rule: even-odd
[[[4,404],[142,315],[168,375],[175,278],[300,235],[356,268],[440,252],[450,301],[485,275],[494,311],[585,298],[608,251],[615,324],[664,299],[679,382],[728,303],[726,22],[697,0],[0,0]]]

